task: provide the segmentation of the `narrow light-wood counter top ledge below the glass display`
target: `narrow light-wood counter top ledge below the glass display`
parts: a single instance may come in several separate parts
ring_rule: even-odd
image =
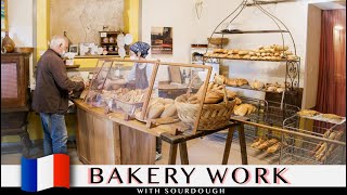
[[[172,126],[179,126],[179,123],[171,123],[171,125],[162,125],[159,127],[155,127],[152,129],[149,129],[145,123],[140,122],[136,119],[133,120],[124,120],[121,114],[117,113],[110,113],[110,114],[104,114],[103,108],[99,107],[93,107],[87,103],[85,103],[82,100],[73,100],[73,102],[76,104],[78,108],[81,108],[86,112],[91,112],[100,117],[107,118],[114,122],[130,127],[132,129],[137,129],[139,131],[155,135],[155,136],[160,136],[162,133],[164,132],[170,132],[172,131]]]

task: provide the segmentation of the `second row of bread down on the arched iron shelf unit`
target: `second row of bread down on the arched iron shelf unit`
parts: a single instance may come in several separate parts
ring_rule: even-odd
[[[264,83],[261,81],[255,80],[249,82],[244,78],[227,78],[222,75],[216,76],[215,79],[220,84],[227,84],[232,88],[262,91],[269,93],[283,93],[288,86],[275,83]]]

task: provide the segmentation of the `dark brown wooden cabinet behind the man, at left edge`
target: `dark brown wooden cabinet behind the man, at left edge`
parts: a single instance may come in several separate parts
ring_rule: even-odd
[[[20,135],[27,157],[31,147],[27,132],[29,57],[30,53],[1,54],[1,136]]]

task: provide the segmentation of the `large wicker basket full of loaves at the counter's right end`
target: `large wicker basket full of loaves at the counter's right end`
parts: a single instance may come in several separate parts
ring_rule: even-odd
[[[183,94],[175,100],[178,117],[185,125],[194,128],[198,119],[200,104],[187,103],[188,95]],[[223,101],[219,104],[204,104],[197,130],[216,130],[228,125],[235,101]]]

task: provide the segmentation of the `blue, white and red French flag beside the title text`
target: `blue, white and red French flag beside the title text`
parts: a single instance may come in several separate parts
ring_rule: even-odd
[[[51,187],[69,188],[69,156],[53,154],[37,159],[22,157],[22,190],[39,192]]]

